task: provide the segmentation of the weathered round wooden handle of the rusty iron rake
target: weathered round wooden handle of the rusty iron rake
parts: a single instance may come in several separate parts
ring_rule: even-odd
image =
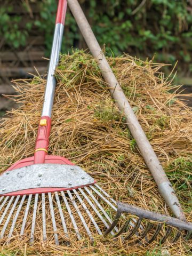
[[[173,187],[167,178],[161,163],[158,161],[158,158],[151,147],[145,132],[143,132],[129,102],[127,101],[121,86],[117,82],[117,79],[108,64],[105,55],[103,54],[101,47],[99,46],[99,43],[97,42],[97,39],[95,38],[93,31],[87,22],[81,6],[77,0],[68,0],[68,5],[90,51],[93,54],[93,57],[98,60],[101,73],[108,84],[112,97],[115,99],[119,109],[123,111],[126,118],[126,125],[129,127],[133,138],[137,142],[140,153],[145,159],[145,162],[153,175],[159,192],[164,197],[166,203],[170,206],[175,216],[181,220],[186,220]]]

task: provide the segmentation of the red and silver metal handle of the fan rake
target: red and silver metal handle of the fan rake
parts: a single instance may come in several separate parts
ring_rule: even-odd
[[[41,121],[38,126],[36,139],[34,164],[45,163],[45,156],[49,147],[49,136],[51,131],[51,112],[55,92],[55,68],[59,62],[59,53],[61,50],[62,35],[67,11],[67,0],[59,0],[57,17],[55,22],[54,37],[51,50],[49,71],[47,74],[46,90],[43,103]]]

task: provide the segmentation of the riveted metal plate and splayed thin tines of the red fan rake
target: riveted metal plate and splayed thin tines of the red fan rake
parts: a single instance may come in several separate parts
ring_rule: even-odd
[[[75,165],[30,165],[3,173],[0,182],[0,242],[15,236],[30,243],[54,239],[56,245],[85,236],[93,241],[117,210],[114,199]]]

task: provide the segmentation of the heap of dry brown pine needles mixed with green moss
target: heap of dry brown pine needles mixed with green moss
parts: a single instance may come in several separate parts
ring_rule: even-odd
[[[172,81],[161,73],[162,64],[143,62],[129,55],[110,58],[109,62],[180,198],[187,220],[192,221],[191,109],[177,99],[177,87],[172,86],[175,90],[170,93]],[[111,100],[97,62],[83,51],[62,55],[56,76],[49,154],[65,156],[83,167],[116,200],[171,214],[159,196],[122,113]],[[12,98],[21,106],[10,111],[0,124],[1,171],[34,154],[45,79],[15,81],[14,87],[19,95]],[[174,245],[166,242],[162,249],[158,241],[144,247],[131,242],[122,244],[121,238],[113,241],[110,237],[96,237],[93,245],[85,238],[73,241],[70,247],[58,247],[54,239],[44,244],[40,238],[32,246],[26,243],[27,237],[19,243],[2,242],[3,255],[192,253],[191,243],[181,239]]]

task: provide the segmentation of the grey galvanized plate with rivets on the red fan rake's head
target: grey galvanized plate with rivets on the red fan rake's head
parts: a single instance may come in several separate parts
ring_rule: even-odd
[[[74,188],[94,183],[76,165],[34,164],[0,175],[0,195],[30,188]]]

